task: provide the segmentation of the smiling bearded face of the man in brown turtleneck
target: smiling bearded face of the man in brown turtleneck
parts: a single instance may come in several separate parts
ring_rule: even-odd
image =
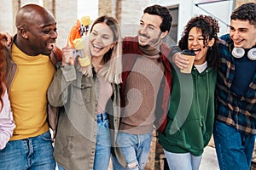
[[[164,38],[168,31],[160,31],[160,25],[162,19],[156,14],[143,14],[140,20],[140,25],[138,26],[138,42],[140,46],[154,46],[159,39]]]

